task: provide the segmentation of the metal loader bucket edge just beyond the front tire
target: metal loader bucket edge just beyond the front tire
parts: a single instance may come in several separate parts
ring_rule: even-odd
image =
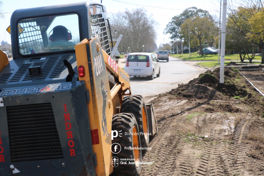
[[[158,127],[157,127],[157,122],[156,122],[156,118],[155,118],[155,114],[153,110],[153,104],[152,103],[146,104],[146,108],[147,108],[147,114],[148,114],[149,133],[151,133],[150,136],[154,136],[158,131]]]

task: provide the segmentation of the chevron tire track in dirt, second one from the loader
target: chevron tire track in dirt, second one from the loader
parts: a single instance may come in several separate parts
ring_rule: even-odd
[[[228,175],[229,168],[226,163],[227,153],[223,147],[225,129],[219,128],[225,125],[225,115],[208,114],[203,120],[198,119],[198,130],[207,129],[210,131],[208,141],[204,142],[204,150],[197,168],[196,175]],[[207,123],[206,123],[207,122]]]

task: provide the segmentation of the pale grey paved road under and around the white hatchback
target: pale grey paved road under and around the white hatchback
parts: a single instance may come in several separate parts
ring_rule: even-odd
[[[124,68],[125,59],[121,59],[119,62],[121,68]],[[148,80],[147,77],[130,76],[132,94],[142,95],[145,102],[151,101],[160,93],[166,93],[177,88],[179,84],[188,83],[197,78],[199,74],[207,71],[204,68],[194,66],[195,62],[182,61],[173,57],[169,58],[169,62],[160,61],[159,63],[161,66],[159,78],[155,76],[153,80]]]

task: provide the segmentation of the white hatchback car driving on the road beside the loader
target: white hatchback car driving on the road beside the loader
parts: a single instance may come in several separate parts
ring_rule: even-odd
[[[154,79],[154,75],[160,77],[159,60],[153,53],[137,52],[130,53],[126,58],[124,67],[129,76],[147,76]]]

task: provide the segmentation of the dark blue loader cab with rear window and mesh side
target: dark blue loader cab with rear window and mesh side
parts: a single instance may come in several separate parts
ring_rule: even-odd
[[[14,60],[56,53],[75,55],[76,44],[95,36],[111,55],[110,27],[105,7],[98,2],[19,9],[11,16]]]

